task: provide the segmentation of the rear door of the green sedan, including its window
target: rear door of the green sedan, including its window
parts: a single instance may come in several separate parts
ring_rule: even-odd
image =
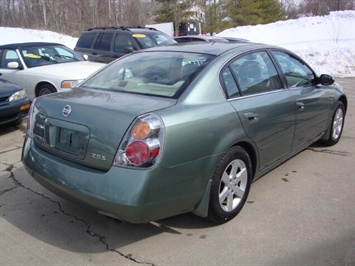
[[[248,137],[256,144],[259,170],[287,155],[295,130],[295,102],[266,51],[243,55],[222,71],[223,85]]]

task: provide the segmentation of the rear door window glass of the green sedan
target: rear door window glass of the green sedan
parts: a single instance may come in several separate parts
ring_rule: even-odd
[[[282,88],[280,77],[266,52],[244,55],[230,64],[240,94],[250,95]]]

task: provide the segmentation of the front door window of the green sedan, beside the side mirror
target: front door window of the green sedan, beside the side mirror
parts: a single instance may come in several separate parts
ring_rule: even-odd
[[[281,66],[289,87],[302,87],[313,84],[313,71],[301,60],[281,51],[273,51],[272,53]]]

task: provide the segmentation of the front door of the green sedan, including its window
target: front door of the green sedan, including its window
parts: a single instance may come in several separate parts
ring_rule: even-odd
[[[301,59],[285,51],[272,51],[295,99],[296,129],[293,149],[307,145],[326,129],[330,94],[316,86],[315,74]]]

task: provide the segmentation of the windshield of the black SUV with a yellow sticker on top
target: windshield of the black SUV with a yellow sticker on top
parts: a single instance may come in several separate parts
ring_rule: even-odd
[[[165,35],[161,32],[149,32],[149,33],[136,33],[132,35],[141,48],[149,48],[153,46],[162,46],[168,44],[174,44],[176,41],[169,35]]]

